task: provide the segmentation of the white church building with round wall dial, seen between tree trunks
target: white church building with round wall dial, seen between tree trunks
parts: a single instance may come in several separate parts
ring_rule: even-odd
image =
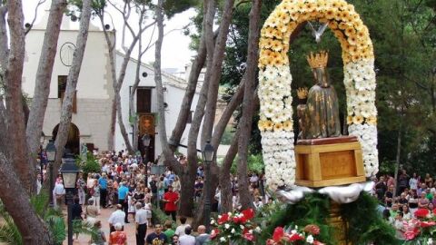
[[[35,75],[38,68],[38,61],[44,42],[45,27],[48,13],[45,13],[42,21],[34,25],[32,30],[25,37],[25,70],[23,74],[23,90],[30,98],[35,91]],[[54,60],[52,82],[50,85],[50,95],[48,106],[45,113],[43,132],[45,141],[54,139],[60,121],[61,104],[64,95],[66,76],[72,63],[75,48],[78,26],[64,16],[59,35],[57,53]],[[85,144],[89,150],[98,149],[99,151],[125,149],[124,139],[116,124],[114,132],[114,145],[108,145],[111,135],[111,108],[114,100],[113,81],[111,76],[111,64],[109,62],[109,52],[104,39],[103,31],[90,25],[88,41],[84,52],[84,61],[77,84],[74,99],[74,113],[70,128],[66,148],[71,152],[78,153],[81,145]],[[124,59],[124,54],[116,52],[116,70],[119,71]],[[135,68],[137,61],[131,59],[126,70],[124,84],[121,90],[122,112],[124,125],[129,133],[129,140],[133,139],[133,127],[129,122],[129,94],[134,85]],[[157,125],[157,99],[154,83],[154,69],[149,64],[141,64],[141,82],[134,98],[134,110],[140,116],[140,123],[146,131],[152,135],[150,153],[157,157],[161,151]],[[186,81],[182,78],[173,76],[169,73],[162,74],[164,86],[166,130],[168,137],[171,135],[177,116],[182,104],[185,92]],[[193,98],[192,110],[198,101],[198,90]],[[182,145],[187,144],[187,125],[183,134]],[[140,127],[141,128],[141,127]],[[136,139],[138,140],[138,139]],[[200,146],[198,147],[200,149]],[[183,152],[183,149],[181,149]]]

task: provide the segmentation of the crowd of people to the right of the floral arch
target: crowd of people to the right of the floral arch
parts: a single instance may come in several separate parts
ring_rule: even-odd
[[[404,221],[414,219],[418,209],[436,211],[435,181],[430,173],[421,178],[417,173],[411,176],[402,170],[398,181],[391,174],[374,178],[374,195],[381,203],[383,218],[397,230],[397,237],[402,239],[405,231]]]

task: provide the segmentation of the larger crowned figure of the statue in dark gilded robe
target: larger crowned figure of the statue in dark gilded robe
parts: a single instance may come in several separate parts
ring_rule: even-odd
[[[328,59],[329,54],[325,51],[307,56],[316,84],[307,94],[304,120],[306,125],[301,139],[341,136],[338,97],[326,71]]]

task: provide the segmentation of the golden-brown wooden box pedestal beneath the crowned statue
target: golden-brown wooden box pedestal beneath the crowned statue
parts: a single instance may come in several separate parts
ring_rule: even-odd
[[[297,142],[295,156],[298,185],[317,188],[366,180],[362,148],[356,137]]]

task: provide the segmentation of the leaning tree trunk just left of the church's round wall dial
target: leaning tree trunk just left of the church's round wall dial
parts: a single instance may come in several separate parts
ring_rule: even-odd
[[[30,153],[35,154],[39,149],[39,140],[43,130],[45,109],[50,93],[54,57],[57,51],[57,42],[61,29],[62,16],[66,7],[66,0],[53,0],[50,7],[50,15],[45,31],[44,44],[39,58],[38,70],[35,78],[35,93],[32,100],[32,110],[27,122],[27,143]]]

